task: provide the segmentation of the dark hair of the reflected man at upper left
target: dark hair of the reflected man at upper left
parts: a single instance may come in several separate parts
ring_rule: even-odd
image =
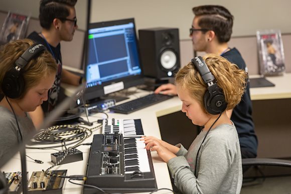
[[[68,6],[74,7],[77,0],[41,0],[40,23],[45,29],[50,29],[54,18],[66,18],[69,16]]]

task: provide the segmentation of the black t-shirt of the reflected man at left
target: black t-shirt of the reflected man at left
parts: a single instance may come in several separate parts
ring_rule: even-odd
[[[47,101],[44,101],[42,108],[44,112],[49,112],[54,109],[57,104],[60,88],[61,88],[61,74],[62,74],[62,56],[61,56],[61,44],[58,44],[57,47],[50,45],[46,39],[39,35],[38,32],[34,31],[28,36],[29,39],[32,39],[36,43],[41,43],[46,46],[47,50],[51,52],[53,57],[56,59],[58,64],[57,74],[55,82],[52,88],[49,90],[49,97]]]

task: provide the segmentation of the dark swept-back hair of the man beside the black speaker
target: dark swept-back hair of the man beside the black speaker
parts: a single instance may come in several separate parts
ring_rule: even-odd
[[[198,25],[213,30],[220,43],[228,42],[232,33],[233,15],[220,5],[193,7],[195,16],[200,16]]]

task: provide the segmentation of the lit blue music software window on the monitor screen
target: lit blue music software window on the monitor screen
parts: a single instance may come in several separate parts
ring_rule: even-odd
[[[89,86],[140,74],[133,23],[89,29],[87,63]]]

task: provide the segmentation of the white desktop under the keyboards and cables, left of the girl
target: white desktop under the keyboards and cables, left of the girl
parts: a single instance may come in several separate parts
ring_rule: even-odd
[[[138,97],[137,95],[144,95],[147,94],[148,92],[142,92],[138,94],[134,94],[131,96],[131,98],[136,98]],[[111,113],[108,112],[109,118],[130,118],[130,119],[135,119],[135,118],[141,118],[141,123],[143,127],[143,131],[145,135],[153,135],[161,138],[160,134],[160,129],[159,129],[159,123],[158,123],[158,118],[157,118],[157,113],[161,115],[163,112],[168,113],[169,108],[171,106],[179,106],[181,104],[180,100],[178,99],[177,96],[173,97],[172,99],[169,99],[167,101],[152,105],[147,108],[143,108],[141,110],[135,111],[131,114],[118,114],[118,113]],[[171,108],[170,108],[171,109]],[[164,111],[165,110],[165,111]],[[84,117],[85,118],[85,117]],[[93,116],[89,116],[90,121],[95,121],[97,119],[102,119],[105,118],[105,115],[103,113],[97,113]],[[85,118],[86,119],[86,118]],[[101,130],[96,130],[94,131],[94,134],[100,133]],[[92,142],[93,139],[93,134],[87,138],[84,143],[86,142]],[[68,145],[69,147],[70,145]],[[53,168],[53,170],[56,169],[67,169],[67,175],[85,175],[86,172],[86,162],[88,159],[88,154],[89,154],[89,145],[81,145],[77,147],[77,149],[81,150],[83,152],[83,160],[82,161],[77,161],[77,162],[72,162],[72,163],[67,163],[67,164],[62,164],[58,165]],[[58,148],[60,149],[60,148]],[[29,172],[29,178],[32,174],[33,171],[40,171],[42,169],[47,169],[52,165],[51,161],[51,153],[57,152],[57,150],[40,150],[40,149],[27,149],[27,155],[34,159],[40,159],[44,161],[43,164],[38,164],[32,161],[30,158],[27,158],[27,170]],[[171,180],[169,176],[169,171],[167,167],[167,163],[165,163],[161,158],[158,156],[156,151],[152,152],[152,158],[153,158],[153,164],[154,164],[154,170],[155,170],[155,175],[156,175],[156,181],[158,188],[170,188],[172,189],[171,185]],[[6,165],[2,167],[3,171],[6,172],[13,172],[13,171],[21,171],[21,163],[20,163],[20,156],[19,153],[17,153]],[[28,178],[28,179],[29,179]],[[75,182],[78,183],[83,183],[83,181],[78,181],[75,180]],[[64,184],[64,192],[63,193],[81,193],[82,192],[82,186],[72,184],[68,182],[66,179],[65,184]],[[169,190],[161,190],[156,193],[172,193]]]

